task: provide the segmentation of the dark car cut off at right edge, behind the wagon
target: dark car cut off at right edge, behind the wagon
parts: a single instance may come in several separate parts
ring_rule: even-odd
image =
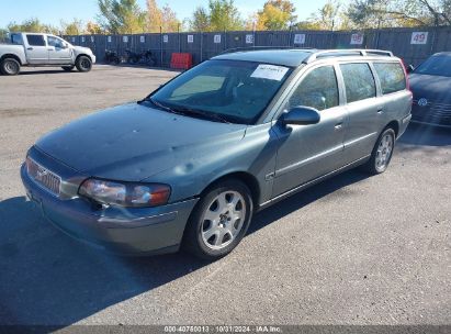
[[[430,56],[409,77],[413,121],[451,127],[451,53]]]

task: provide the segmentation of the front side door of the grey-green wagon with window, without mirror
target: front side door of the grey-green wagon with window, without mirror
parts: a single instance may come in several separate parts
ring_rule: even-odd
[[[287,112],[296,105],[313,107],[320,121],[309,125],[277,122],[279,137],[273,197],[342,166],[347,110],[340,105],[339,86],[332,65],[304,74],[284,102]]]

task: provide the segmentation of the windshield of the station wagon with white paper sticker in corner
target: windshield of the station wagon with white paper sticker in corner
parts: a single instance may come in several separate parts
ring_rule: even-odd
[[[190,116],[252,124],[291,71],[289,67],[253,62],[207,60],[149,99],[157,107]]]

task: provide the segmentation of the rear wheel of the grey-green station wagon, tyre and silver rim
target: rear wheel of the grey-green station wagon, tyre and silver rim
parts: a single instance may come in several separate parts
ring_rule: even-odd
[[[381,133],[371,153],[370,160],[362,166],[368,172],[377,175],[387,169],[395,148],[395,131],[391,127]]]

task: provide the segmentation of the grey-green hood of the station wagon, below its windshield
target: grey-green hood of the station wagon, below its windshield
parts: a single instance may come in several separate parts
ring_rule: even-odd
[[[138,181],[234,145],[246,127],[131,103],[71,122],[42,137],[36,147],[86,175]]]

